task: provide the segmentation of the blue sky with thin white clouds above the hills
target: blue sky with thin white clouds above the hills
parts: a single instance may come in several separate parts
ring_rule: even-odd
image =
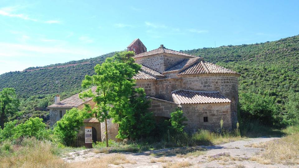
[[[0,74],[126,49],[185,50],[299,34],[299,1],[0,0]],[[204,55],[203,55],[204,57]]]

